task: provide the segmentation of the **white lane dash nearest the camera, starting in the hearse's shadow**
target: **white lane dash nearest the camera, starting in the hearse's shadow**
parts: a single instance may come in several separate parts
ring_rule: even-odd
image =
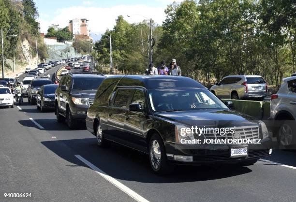
[[[91,168],[96,173],[98,173],[99,175],[101,175],[102,177],[104,177],[110,183],[112,183],[113,185],[115,185],[116,187],[118,187],[119,189],[121,189],[123,192],[125,192],[126,194],[128,194],[134,200],[136,200],[138,202],[148,202],[148,200],[146,200],[145,198],[143,198],[142,196],[140,196],[139,194],[137,194],[136,192],[134,192],[132,189],[126,187],[125,185],[123,185],[121,182],[119,182],[115,178],[109,176],[107,173],[105,173],[104,171],[102,171],[101,169],[99,169],[98,167],[96,167],[95,165],[93,165],[92,163],[90,163],[87,159],[84,159],[80,155],[75,155],[75,157],[77,159],[81,160],[82,162],[84,162],[86,165],[89,166],[89,168]]]

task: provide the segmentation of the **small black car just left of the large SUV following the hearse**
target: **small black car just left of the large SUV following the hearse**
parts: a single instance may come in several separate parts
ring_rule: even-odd
[[[49,84],[40,88],[36,97],[37,110],[44,112],[55,108],[55,92],[58,87],[56,84]]]

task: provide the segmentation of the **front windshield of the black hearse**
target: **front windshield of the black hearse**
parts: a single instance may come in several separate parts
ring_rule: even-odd
[[[222,101],[203,88],[149,89],[148,95],[151,108],[155,112],[228,109]]]

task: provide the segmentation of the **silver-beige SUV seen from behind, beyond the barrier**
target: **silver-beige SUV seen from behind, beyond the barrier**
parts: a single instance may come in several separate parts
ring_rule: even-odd
[[[258,75],[230,75],[212,86],[210,91],[219,98],[264,98],[267,95],[267,84]]]

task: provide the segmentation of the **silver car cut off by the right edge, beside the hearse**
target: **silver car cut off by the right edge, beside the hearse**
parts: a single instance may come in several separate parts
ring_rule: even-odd
[[[279,91],[271,95],[270,117],[280,148],[296,145],[296,76],[284,78]]]

